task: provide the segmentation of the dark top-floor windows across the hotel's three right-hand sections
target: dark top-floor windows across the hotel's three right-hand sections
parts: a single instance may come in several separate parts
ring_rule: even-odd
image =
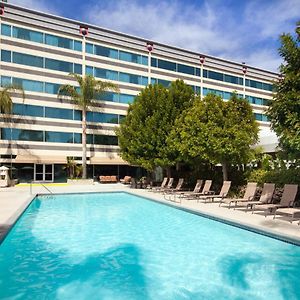
[[[151,66],[155,68],[168,70],[168,71],[179,72],[179,73],[184,73],[184,74],[189,74],[189,75],[194,75],[199,77],[201,76],[200,68],[179,64],[168,60],[151,58]],[[213,80],[218,80],[218,81],[224,81],[232,84],[238,84],[238,85],[244,84],[243,77],[228,75],[221,72],[215,72],[206,69],[203,70],[203,77],[213,79]],[[245,85],[256,89],[273,91],[272,84],[264,83],[260,81],[246,79]]]

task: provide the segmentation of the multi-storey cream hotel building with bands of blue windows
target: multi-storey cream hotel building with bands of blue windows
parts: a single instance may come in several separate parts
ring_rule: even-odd
[[[213,92],[224,100],[237,91],[251,103],[262,132],[269,131],[264,110],[277,73],[4,2],[0,5],[1,86],[17,84],[25,90],[25,101],[13,94],[9,118],[0,114],[0,164],[12,164],[18,177],[57,181],[67,157],[80,162],[81,112],[57,97],[60,85],[75,85],[68,76],[71,72],[92,74],[120,89],[105,93],[87,114],[90,177],[108,175],[105,172],[123,176],[130,168],[118,155],[114,129],[128,104],[149,83],[168,86],[179,78],[198,94]]]

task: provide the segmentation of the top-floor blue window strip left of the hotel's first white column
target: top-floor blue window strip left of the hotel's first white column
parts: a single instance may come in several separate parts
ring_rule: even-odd
[[[81,41],[68,39],[53,34],[47,34],[35,30],[29,30],[17,26],[1,24],[1,34],[26,41],[47,44],[50,46],[71,49],[75,51],[82,51]]]

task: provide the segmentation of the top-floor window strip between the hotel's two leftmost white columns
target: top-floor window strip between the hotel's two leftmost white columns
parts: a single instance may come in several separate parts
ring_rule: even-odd
[[[114,48],[109,48],[105,46],[100,45],[94,45],[87,43],[86,44],[86,52],[90,54],[95,54],[99,56],[119,59],[123,61],[128,61],[136,64],[141,65],[148,65],[148,57],[141,55],[141,54],[135,54],[132,52],[122,51]]]

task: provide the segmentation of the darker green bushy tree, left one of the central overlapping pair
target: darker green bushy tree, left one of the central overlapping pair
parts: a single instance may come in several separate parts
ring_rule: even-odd
[[[177,150],[168,147],[167,138],[193,99],[193,90],[182,80],[168,88],[155,84],[142,90],[116,130],[122,158],[149,171],[156,166],[169,170],[176,163]]]

